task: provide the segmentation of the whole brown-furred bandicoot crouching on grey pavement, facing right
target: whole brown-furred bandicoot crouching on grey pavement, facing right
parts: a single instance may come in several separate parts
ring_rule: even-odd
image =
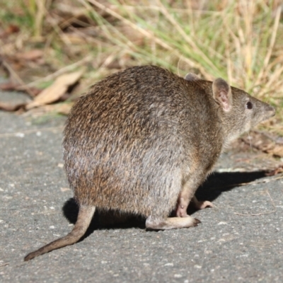
[[[197,226],[187,204],[224,146],[274,113],[222,79],[132,67],[96,83],[72,108],[63,141],[67,178],[82,207],[141,214],[148,229]],[[168,218],[173,209],[178,217]]]

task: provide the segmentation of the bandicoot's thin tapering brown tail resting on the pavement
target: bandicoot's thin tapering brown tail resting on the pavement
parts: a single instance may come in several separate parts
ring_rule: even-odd
[[[32,258],[37,257],[38,255],[43,255],[44,253],[48,253],[51,250],[56,250],[57,248],[62,248],[64,246],[72,245],[79,241],[79,239],[86,233],[89,224],[91,223],[91,219],[93,218],[93,214],[96,211],[96,207],[90,206],[81,206],[79,208],[78,219],[76,220],[76,224],[74,229],[67,235],[58,240],[55,240],[42,248],[35,250],[33,253],[29,253],[25,256],[25,261],[31,260]]]

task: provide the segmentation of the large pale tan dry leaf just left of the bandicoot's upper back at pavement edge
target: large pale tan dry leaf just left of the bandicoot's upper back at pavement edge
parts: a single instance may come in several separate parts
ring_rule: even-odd
[[[33,102],[27,105],[26,109],[29,110],[59,100],[59,98],[64,96],[64,93],[66,93],[69,86],[80,79],[82,74],[83,71],[76,71],[71,74],[59,76],[50,87],[45,88],[38,96],[36,96]]]

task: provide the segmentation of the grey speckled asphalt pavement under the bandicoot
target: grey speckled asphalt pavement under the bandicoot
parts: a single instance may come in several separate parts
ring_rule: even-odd
[[[23,262],[76,219],[64,120],[0,111],[0,282],[282,282],[283,176],[262,172],[281,161],[251,150],[222,156],[197,193],[216,207],[192,210],[195,228],[145,231],[143,219],[109,227],[96,215],[83,241]]]

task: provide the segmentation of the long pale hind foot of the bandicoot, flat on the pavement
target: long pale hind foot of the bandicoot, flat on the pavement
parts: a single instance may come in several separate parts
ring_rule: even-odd
[[[146,219],[146,229],[149,230],[170,230],[170,229],[180,229],[189,228],[197,226],[201,223],[199,219],[192,218],[190,215],[185,217],[168,217],[166,219],[152,219],[149,216]]]

